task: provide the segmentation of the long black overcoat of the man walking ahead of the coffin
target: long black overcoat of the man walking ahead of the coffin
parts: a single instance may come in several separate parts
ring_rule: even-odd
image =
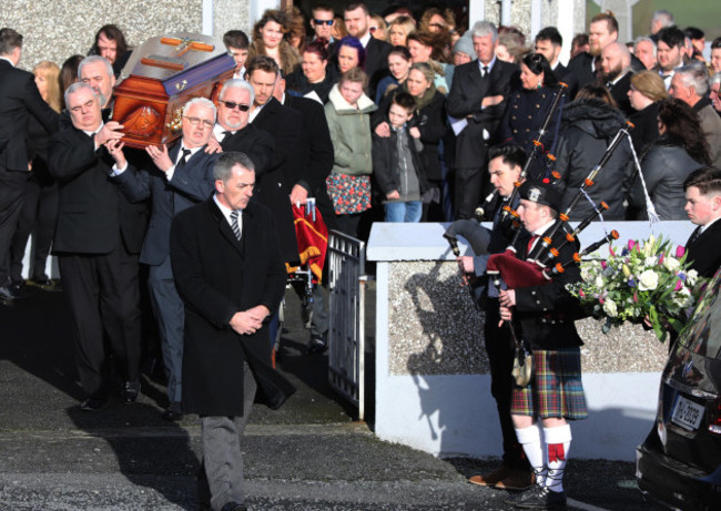
[[[171,262],[185,303],[183,410],[243,416],[243,361],[258,384],[256,401],[280,407],[295,389],[271,362],[267,323],[238,335],[229,321],[257,305],[271,311],[285,292],[273,214],[252,202],[238,242],[213,198],[179,213],[171,229]]]

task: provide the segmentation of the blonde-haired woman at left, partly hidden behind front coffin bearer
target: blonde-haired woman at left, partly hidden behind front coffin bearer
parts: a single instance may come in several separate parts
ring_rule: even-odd
[[[58,64],[43,60],[32,69],[32,73],[35,75],[35,84],[42,99],[52,110],[60,113],[60,68]],[[28,238],[31,233],[34,233],[34,255],[28,273],[35,285],[50,289],[53,283],[45,274],[45,265],[55,233],[58,185],[48,172],[47,153],[50,134],[32,115],[28,124],[28,133],[35,142],[35,155],[32,159],[32,173],[26,187],[26,201],[18,217],[18,227],[12,236],[10,278],[16,285],[24,284],[22,259]]]

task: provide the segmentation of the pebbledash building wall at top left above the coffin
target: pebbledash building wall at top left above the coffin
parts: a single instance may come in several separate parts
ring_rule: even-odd
[[[131,47],[167,32],[201,32],[220,39],[231,29],[248,31],[252,8],[258,3],[258,0],[3,0],[0,25],[23,35],[20,67],[31,70],[42,60],[61,65],[73,54],[87,54],[95,32],[106,23],[120,27]]]

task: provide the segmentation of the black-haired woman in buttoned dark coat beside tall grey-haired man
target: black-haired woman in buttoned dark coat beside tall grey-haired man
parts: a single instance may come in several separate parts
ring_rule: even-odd
[[[551,121],[540,140],[540,152],[529,167],[531,178],[540,178],[546,173],[547,153],[554,145],[560,117],[559,108],[551,113],[551,106],[558,95],[559,82],[548,60],[540,53],[527,53],[520,63],[520,88],[511,92],[506,112],[498,125],[498,140],[501,143],[518,144],[526,154],[534,151],[534,141],[538,137],[546,117]]]

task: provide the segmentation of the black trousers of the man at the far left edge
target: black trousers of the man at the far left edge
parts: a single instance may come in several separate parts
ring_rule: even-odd
[[[0,286],[10,284],[10,246],[29,177],[29,172],[8,171],[0,164]]]

